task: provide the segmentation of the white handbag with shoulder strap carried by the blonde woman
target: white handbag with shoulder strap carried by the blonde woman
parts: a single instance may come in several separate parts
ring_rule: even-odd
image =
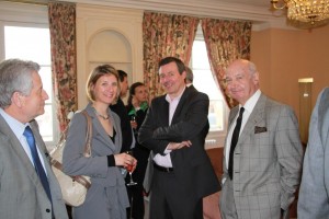
[[[92,124],[91,118],[86,111],[82,111],[82,114],[87,119],[87,135],[86,135],[86,146],[83,155],[91,155],[91,138],[92,138]],[[57,177],[57,181],[61,188],[63,198],[69,206],[80,206],[83,204],[87,191],[90,187],[90,177],[84,175],[76,175],[70,176],[66,175],[61,169],[63,162],[63,151],[66,146],[66,137],[67,137],[68,128],[61,135],[57,146],[50,152],[50,163],[54,174]]]

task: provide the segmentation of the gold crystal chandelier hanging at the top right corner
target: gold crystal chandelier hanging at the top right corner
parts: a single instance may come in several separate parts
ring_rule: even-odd
[[[271,0],[274,9],[287,9],[292,21],[310,23],[329,19],[329,0]]]

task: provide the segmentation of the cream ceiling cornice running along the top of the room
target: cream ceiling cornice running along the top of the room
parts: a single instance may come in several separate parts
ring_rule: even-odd
[[[50,0],[8,0],[46,4]],[[268,27],[291,28],[284,11],[273,11],[270,0],[61,0],[106,7],[139,9],[211,16],[215,19],[249,20],[253,30]]]

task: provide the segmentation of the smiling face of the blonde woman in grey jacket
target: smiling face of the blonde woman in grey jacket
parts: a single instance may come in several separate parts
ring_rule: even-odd
[[[94,102],[110,105],[116,100],[118,89],[117,78],[114,74],[103,74],[92,85]]]

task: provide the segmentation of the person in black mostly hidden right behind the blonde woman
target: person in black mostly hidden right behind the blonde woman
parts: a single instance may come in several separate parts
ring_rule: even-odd
[[[110,108],[114,113],[116,113],[121,119],[121,129],[123,143],[121,148],[121,152],[128,151],[135,145],[134,134],[131,127],[131,120],[128,117],[128,112],[122,99],[127,95],[129,84],[128,84],[128,76],[123,70],[117,70],[118,79],[120,79],[120,97],[115,104],[111,104]]]

